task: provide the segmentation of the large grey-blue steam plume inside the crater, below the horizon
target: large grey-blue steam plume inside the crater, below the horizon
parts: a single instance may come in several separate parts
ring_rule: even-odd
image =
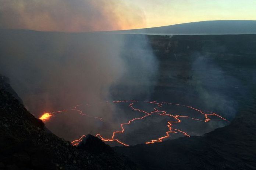
[[[138,84],[149,82],[157,74],[157,60],[144,35],[129,38],[102,33],[25,30],[5,30],[2,33],[0,72],[10,78],[26,108],[36,117],[40,117],[44,111],[66,110],[77,104],[96,103],[95,107],[91,107],[90,114],[111,122],[117,108],[111,102],[108,106],[104,103],[112,101],[112,94],[118,93],[115,86],[124,82],[131,85],[136,83],[124,90],[129,92],[125,99],[142,93],[146,93],[147,97],[147,91],[151,89],[140,88]],[[141,79],[140,82],[132,79],[135,75],[136,80]],[[52,125],[62,128],[54,133],[61,132],[63,137],[71,139],[88,132],[89,127],[94,127],[93,132],[97,133],[97,128],[103,126],[100,122],[95,125],[88,121],[78,128],[77,122],[81,122],[81,117],[75,117],[74,114],[63,116]],[[69,129],[63,130],[58,123],[69,124]],[[72,137],[65,136],[65,133],[72,134]]]

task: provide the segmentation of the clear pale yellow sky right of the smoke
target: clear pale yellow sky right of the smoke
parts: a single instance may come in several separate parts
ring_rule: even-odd
[[[207,20],[256,20],[256,0],[128,0],[145,13],[146,27]]]

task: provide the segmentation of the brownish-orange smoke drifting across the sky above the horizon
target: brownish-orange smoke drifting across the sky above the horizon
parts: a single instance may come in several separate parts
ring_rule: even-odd
[[[142,10],[119,0],[1,1],[1,29],[88,32],[145,26]]]

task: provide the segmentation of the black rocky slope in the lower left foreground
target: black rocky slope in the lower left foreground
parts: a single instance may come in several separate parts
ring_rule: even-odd
[[[0,80],[0,169],[135,169],[110,147],[111,152],[88,152],[45,130],[15,98],[8,79]]]

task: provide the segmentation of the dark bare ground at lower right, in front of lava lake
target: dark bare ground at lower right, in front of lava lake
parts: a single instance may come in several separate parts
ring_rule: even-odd
[[[203,136],[114,149],[145,170],[256,169],[255,98],[247,102],[230,125]]]

